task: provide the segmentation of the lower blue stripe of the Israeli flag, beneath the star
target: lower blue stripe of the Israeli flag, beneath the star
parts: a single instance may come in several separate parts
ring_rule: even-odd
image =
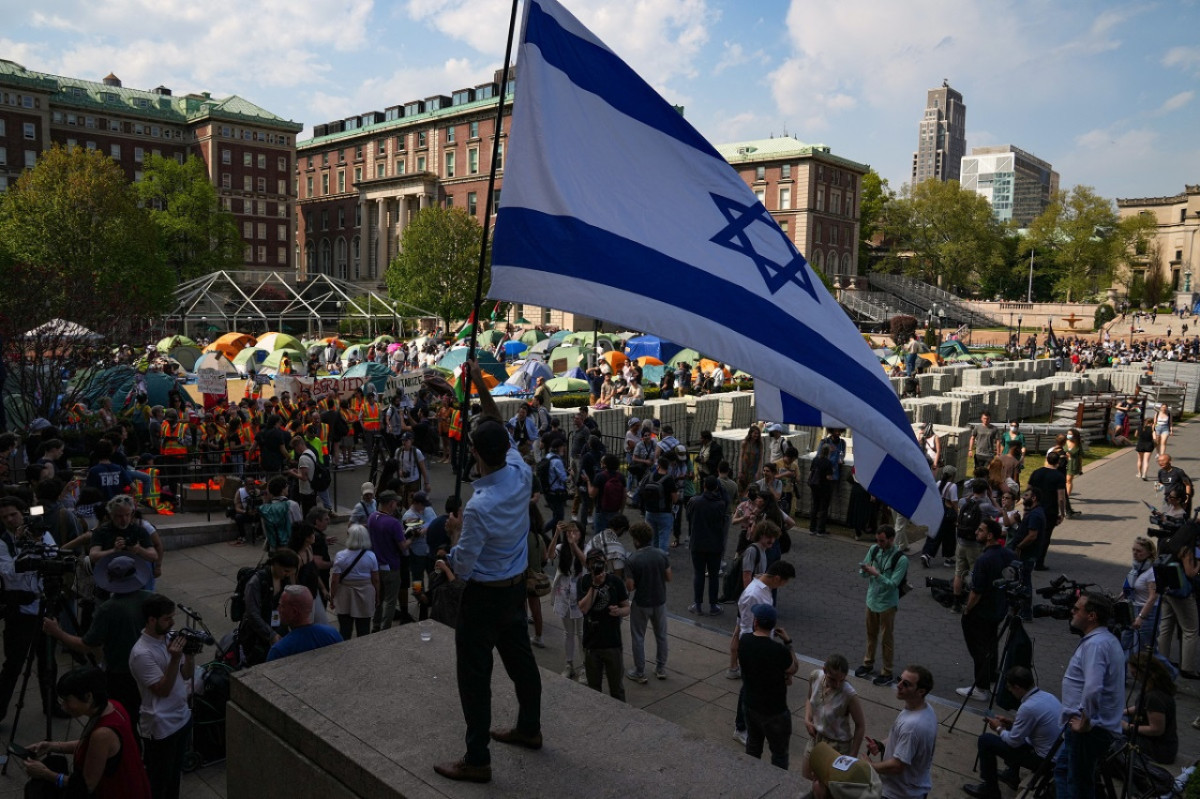
[[[643,293],[647,277],[653,276],[656,283],[672,287],[673,305],[823,376],[912,438],[912,426],[890,385],[772,300],[701,268],[575,217],[514,206],[497,215],[492,263],[564,277],[602,276],[606,286],[634,294]],[[758,278],[754,271],[746,275]]]

